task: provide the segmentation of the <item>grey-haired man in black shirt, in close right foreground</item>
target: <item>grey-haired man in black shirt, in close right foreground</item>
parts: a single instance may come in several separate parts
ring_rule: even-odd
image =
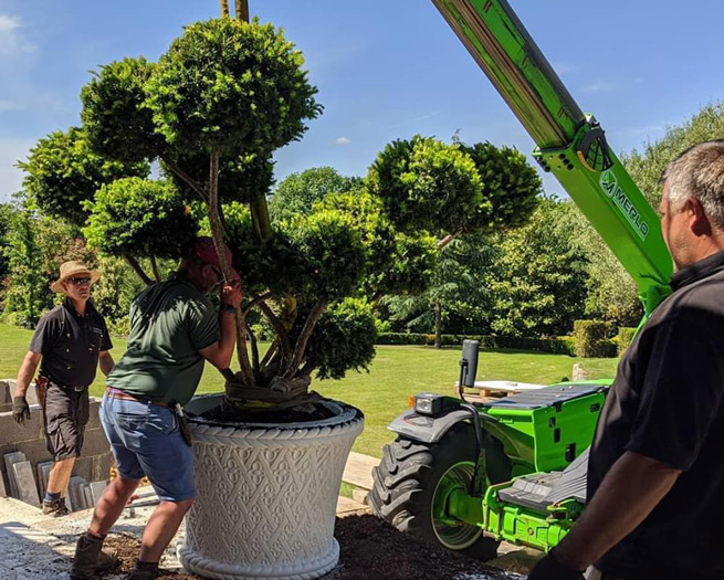
[[[724,578],[724,140],[663,175],[673,294],[621,360],[596,429],[588,504],[531,580]]]

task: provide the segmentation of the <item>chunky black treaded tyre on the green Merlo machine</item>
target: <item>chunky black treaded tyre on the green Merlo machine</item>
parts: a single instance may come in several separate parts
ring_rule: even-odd
[[[479,481],[510,478],[510,461],[499,441],[486,436]],[[436,517],[453,488],[468,489],[473,476],[475,439],[468,423],[454,425],[438,443],[402,436],[385,445],[382,461],[373,471],[375,485],[368,503],[373,513],[400,531],[411,534],[480,560],[497,555],[499,541],[483,536],[479,526]]]

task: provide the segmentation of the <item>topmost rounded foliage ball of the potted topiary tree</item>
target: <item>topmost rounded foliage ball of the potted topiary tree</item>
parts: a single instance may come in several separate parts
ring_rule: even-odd
[[[179,151],[269,156],[321,107],[304,57],[271,24],[222,18],[187,27],[148,84],[158,130]]]

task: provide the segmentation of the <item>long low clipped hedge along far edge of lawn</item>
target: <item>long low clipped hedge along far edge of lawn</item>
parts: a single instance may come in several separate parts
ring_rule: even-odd
[[[575,356],[571,337],[560,338],[516,338],[492,335],[442,335],[442,346],[460,346],[463,340],[478,340],[481,348],[513,348],[538,350],[556,355]],[[382,333],[377,337],[378,345],[434,345],[434,335],[416,333]]]

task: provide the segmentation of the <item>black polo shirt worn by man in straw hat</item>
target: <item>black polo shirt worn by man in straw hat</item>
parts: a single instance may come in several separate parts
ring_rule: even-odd
[[[40,373],[67,387],[91,384],[98,354],[111,348],[106,323],[93,304],[86,303],[81,316],[67,298],[40,319],[30,342],[30,351],[43,356]]]

